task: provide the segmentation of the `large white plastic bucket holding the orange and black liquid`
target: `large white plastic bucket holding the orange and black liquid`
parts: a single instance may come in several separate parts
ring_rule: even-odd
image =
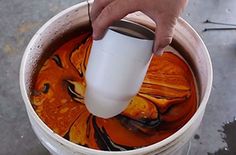
[[[181,49],[181,55],[190,64],[197,79],[199,107],[193,117],[176,133],[153,145],[131,151],[98,151],[74,144],[55,134],[36,114],[30,103],[31,79],[50,40],[64,32],[89,24],[86,2],[72,6],[49,20],[31,39],[22,58],[20,88],[27,113],[35,134],[52,154],[63,155],[183,155],[184,145],[189,142],[199,127],[212,86],[212,64],[209,53],[199,35],[183,19],[178,19],[172,47]],[[155,24],[146,16],[129,15],[126,19],[154,28]],[[40,46],[40,48],[37,48]]]

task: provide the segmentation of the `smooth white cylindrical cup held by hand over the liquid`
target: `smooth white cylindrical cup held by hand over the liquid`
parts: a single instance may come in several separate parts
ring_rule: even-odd
[[[101,40],[93,41],[86,71],[85,104],[94,115],[121,113],[144,80],[154,33],[128,21],[114,23]]]

